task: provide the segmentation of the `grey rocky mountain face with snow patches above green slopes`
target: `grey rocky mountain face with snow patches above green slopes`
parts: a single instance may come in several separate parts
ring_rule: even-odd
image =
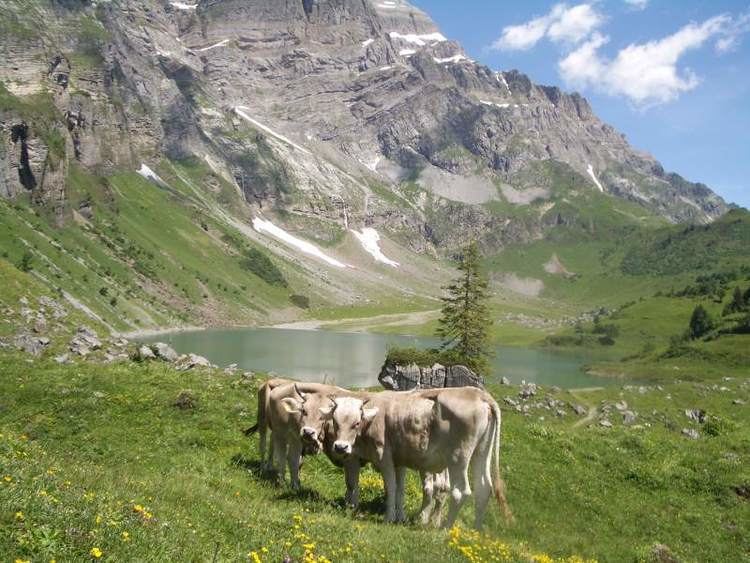
[[[138,171],[341,287],[347,260],[369,284],[475,238],[494,253],[727,211],[580,95],[471,60],[403,0],[4,4],[0,196],[57,227],[102,211],[71,176]],[[162,179],[180,163],[206,174]]]

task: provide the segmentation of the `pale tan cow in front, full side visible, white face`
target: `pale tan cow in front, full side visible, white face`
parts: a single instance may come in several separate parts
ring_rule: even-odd
[[[332,455],[344,463],[372,462],[383,475],[387,522],[406,518],[407,468],[423,476],[447,470],[451,506],[445,526],[451,527],[472,494],[470,465],[474,526],[481,528],[493,492],[506,517],[512,518],[500,478],[500,408],[486,391],[456,387],[373,393],[364,399],[335,397],[321,413],[330,420]]]

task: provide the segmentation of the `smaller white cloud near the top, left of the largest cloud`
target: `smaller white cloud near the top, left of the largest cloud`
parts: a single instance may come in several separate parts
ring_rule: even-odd
[[[544,16],[503,28],[491,47],[501,51],[526,51],[544,37],[556,43],[577,44],[603,23],[604,16],[592,4],[573,7],[557,4]]]

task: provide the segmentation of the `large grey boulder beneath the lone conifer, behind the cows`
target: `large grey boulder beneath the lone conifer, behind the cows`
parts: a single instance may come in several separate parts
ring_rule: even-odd
[[[484,387],[484,378],[466,366],[444,366],[433,364],[422,367],[417,364],[398,365],[386,362],[380,370],[378,381],[392,391],[409,389],[441,389],[444,387]]]

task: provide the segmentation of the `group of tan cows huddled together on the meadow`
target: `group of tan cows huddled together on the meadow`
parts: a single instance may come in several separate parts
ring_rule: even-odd
[[[386,522],[402,522],[406,470],[415,469],[422,478],[423,524],[440,524],[450,496],[444,525],[452,526],[473,494],[478,529],[493,494],[512,518],[500,477],[500,423],[495,400],[475,387],[371,393],[271,379],[258,391],[258,421],[245,433],[260,434],[266,469],[283,480],[289,465],[293,488],[300,486],[302,456],[323,451],[343,467],[345,502],[356,507],[359,471],[369,462],[383,476]]]

